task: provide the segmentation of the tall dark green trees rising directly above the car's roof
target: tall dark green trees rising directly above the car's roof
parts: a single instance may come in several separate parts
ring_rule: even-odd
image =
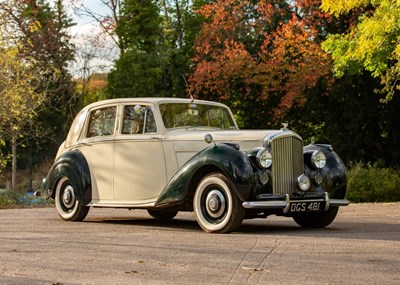
[[[201,1],[124,1],[116,28],[123,52],[108,77],[107,96],[186,97]]]

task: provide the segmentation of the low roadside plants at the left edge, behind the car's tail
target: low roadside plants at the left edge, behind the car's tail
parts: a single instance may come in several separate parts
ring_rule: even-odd
[[[0,209],[46,207],[50,205],[52,205],[50,201],[34,197],[32,194],[21,194],[0,189]]]

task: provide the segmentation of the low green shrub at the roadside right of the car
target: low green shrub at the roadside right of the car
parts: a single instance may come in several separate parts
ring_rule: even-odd
[[[400,201],[400,171],[362,163],[351,165],[347,198],[352,202]]]

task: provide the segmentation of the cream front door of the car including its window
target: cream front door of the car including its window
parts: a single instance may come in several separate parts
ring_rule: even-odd
[[[162,137],[150,106],[122,108],[122,127],[114,141],[114,200],[152,206],[166,184]]]

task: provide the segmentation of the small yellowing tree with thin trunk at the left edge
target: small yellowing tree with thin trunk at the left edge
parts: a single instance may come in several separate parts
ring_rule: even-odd
[[[0,145],[6,141],[11,145],[13,190],[16,190],[17,147],[36,135],[34,119],[45,99],[44,94],[38,92],[42,74],[34,66],[34,60],[22,59],[16,49],[1,49]],[[2,167],[4,158],[0,157]]]

